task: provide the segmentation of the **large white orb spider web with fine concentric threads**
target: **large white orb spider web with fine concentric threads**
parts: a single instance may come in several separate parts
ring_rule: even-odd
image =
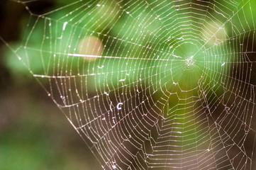
[[[256,168],[254,0],[37,3],[13,52],[103,169]]]

